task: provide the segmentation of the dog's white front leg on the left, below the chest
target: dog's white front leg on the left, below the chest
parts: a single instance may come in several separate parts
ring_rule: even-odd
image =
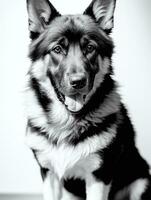
[[[44,200],[60,200],[62,195],[61,183],[55,174],[47,171],[43,176]]]

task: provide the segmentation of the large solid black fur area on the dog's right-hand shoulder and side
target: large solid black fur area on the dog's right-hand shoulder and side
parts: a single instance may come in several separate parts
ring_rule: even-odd
[[[104,160],[103,166],[93,172],[96,178],[103,180],[105,184],[113,181],[110,200],[114,199],[117,191],[124,189],[133,181],[140,177],[150,177],[148,164],[134,146],[135,132],[123,105],[121,105],[121,116],[116,140],[100,152]]]

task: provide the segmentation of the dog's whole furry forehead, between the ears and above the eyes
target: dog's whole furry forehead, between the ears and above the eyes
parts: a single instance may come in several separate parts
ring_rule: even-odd
[[[108,57],[112,54],[112,40],[103,32],[95,20],[87,15],[66,15],[56,17],[44,32],[32,41],[30,57],[32,60],[36,60],[37,57],[44,55],[62,38],[67,38],[69,44],[76,43],[78,45],[81,45],[83,39],[86,38],[91,42],[96,42]],[[88,40],[86,42],[89,42]]]

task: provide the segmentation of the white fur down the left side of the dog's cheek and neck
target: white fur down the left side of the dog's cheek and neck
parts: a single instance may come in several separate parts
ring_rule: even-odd
[[[25,108],[27,118],[30,119],[34,125],[41,127],[42,130],[47,132],[49,136],[55,138],[58,137],[58,131],[60,134],[60,131],[63,131],[64,127],[68,126],[68,124],[72,124],[73,117],[69,115],[65,106],[58,100],[54,88],[49,78],[46,76],[46,66],[48,65],[48,62],[49,56],[46,56],[44,60],[39,60],[35,62],[31,66],[30,74],[32,74],[32,76],[39,81],[41,90],[47,94],[51,101],[53,101],[53,103],[51,104],[51,112],[48,113],[47,118],[43,109],[39,105],[36,95],[31,88],[27,88],[25,91]],[[50,119],[53,119],[53,123],[52,121],[49,121],[49,115]],[[50,130],[48,127],[49,123],[53,124]],[[60,127],[62,127],[62,129],[59,129],[57,131],[58,124],[60,124]],[[64,138],[66,136],[67,134],[60,134],[60,140],[62,139],[62,137]]]

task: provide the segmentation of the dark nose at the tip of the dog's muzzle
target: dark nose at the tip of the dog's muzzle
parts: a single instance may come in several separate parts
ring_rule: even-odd
[[[82,89],[86,86],[86,77],[84,75],[74,75],[70,77],[70,85],[74,89]]]

